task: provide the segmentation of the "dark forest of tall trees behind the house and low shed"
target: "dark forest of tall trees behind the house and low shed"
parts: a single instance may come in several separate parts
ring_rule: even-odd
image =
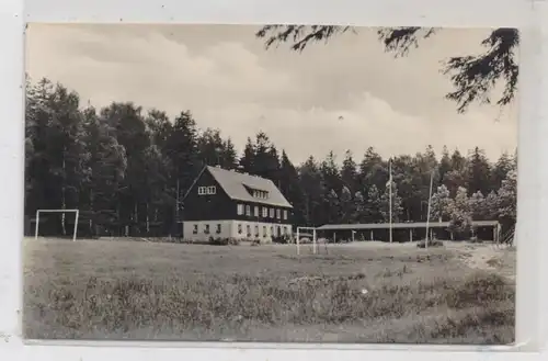
[[[295,224],[377,223],[388,215],[388,160],[330,153],[294,165],[259,133],[239,154],[218,129],[199,129],[190,111],[173,120],[133,103],[82,109],[79,95],[44,79],[27,86],[25,215],[36,210],[80,210],[79,234],[175,235],[182,195],[204,165],[272,179],[294,204]],[[359,156],[359,158],[357,158]],[[354,158],[356,157],[356,158]],[[515,222],[516,155],[491,163],[479,147],[467,155],[432,147],[392,161],[392,219],[424,222],[434,171],[431,217],[467,227],[471,219]],[[58,235],[69,216],[54,217]],[[54,232],[49,230],[49,232]]]

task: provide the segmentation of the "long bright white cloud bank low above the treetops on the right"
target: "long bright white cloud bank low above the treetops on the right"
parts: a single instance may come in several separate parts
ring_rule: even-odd
[[[486,124],[486,119],[477,113],[455,115],[431,126],[436,121],[400,113],[369,93],[353,99],[352,106],[340,110],[265,109],[242,103],[196,115],[207,126],[230,124],[222,128],[240,129],[230,133],[238,145],[244,144],[249,135],[264,131],[296,162],[309,155],[323,157],[330,150],[342,160],[346,149],[359,159],[369,146],[386,157],[414,154],[424,150],[429,144],[438,153],[444,145],[449,149],[458,147],[461,151],[479,145],[494,158],[500,155],[501,147],[513,151],[512,142],[501,145],[500,139],[512,139],[515,134],[511,124]],[[486,128],[492,131],[482,134],[482,142],[478,144],[478,133]]]

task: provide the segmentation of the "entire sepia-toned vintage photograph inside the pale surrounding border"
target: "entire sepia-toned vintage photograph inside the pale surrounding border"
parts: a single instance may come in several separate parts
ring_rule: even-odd
[[[26,339],[514,342],[517,30],[25,42]]]

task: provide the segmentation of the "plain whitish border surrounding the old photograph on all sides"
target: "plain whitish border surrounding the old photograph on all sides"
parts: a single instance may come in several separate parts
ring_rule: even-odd
[[[548,219],[548,94],[545,1],[532,0],[1,0],[0,1],[0,360],[361,360],[364,357],[407,360],[533,360],[547,340],[547,247],[543,219]],[[290,9],[290,10],[288,10]],[[544,21],[543,21],[544,20]],[[24,24],[75,23],[304,23],[363,26],[520,27],[520,125],[517,202],[516,345],[389,346],[220,342],[53,342],[22,340],[23,161],[24,161]],[[546,69],[545,69],[546,70]],[[546,283],[546,282],[545,282]],[[504,352],[507,351],[507,352]]]

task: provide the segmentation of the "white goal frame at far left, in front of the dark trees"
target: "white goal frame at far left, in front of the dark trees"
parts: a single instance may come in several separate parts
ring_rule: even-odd
[[[78,233],[79,210],[38,210],[34,239],[38,236],[67,237],[76,240]]]

